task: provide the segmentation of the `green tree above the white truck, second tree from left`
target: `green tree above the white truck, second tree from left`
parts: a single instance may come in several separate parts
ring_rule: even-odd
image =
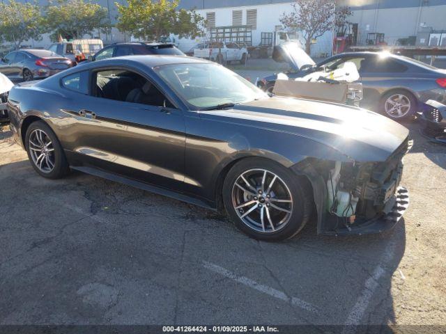
[[[107,8],[97,3],[50,0],[45,7],[45,26],[52,33],[52,40],[57,40],[59,35],[64,38],[93,37],[95,30],[108,31],[110,22]]]

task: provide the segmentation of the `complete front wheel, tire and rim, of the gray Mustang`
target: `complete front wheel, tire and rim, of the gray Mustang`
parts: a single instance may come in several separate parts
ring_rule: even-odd
[[[306,180],[263,158],[247,158],[231,168],[223,202],[237,228],[265,241],[293,237],[312,213]]]

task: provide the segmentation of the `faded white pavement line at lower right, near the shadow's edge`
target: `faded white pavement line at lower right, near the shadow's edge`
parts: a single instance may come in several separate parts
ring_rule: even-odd
[[[395,243],[394,241],[391,241],[384,249],[384,255],[381,259],[381,264],[385,266],[387,262],[390,262],[392,260],[392,257],[394,255],[394,249],[395,249]],[[347,333],[355,333],[355,328],[348,325],[359,325],[362,317],[364,317],[364,314],[367,310],[367,307],[369,306],[371,297],[374,295],[374,292],[376,288],[379,286],[378,280],[385,274],[385,269],[381,267],[381,264],[378,264],[378,266],[374,269],[373,273],[371,273],[371,276],[367,278],[367,280],[364,283],[364,290],[362,290],[362,294],[357,299],[355,305],[351,309],[350,314],[348,315],[346,321],[344,331],[342,331],[342,334]]]

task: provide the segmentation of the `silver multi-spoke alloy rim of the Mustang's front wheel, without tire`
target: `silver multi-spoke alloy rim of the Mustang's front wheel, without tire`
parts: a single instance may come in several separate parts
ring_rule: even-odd
[[[289,223],[293,196],[275,173],[265,169],[247,170],[232,187],[233,209],[252,230],[277,232]]]

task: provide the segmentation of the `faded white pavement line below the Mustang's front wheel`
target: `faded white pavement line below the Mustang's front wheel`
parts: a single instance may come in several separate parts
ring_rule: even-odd
[[[215,273],[219,273],[222,276],[226,276],[227,278],[231,278],[231,280],[235,280],[236,282],[246,285],[247,287],[256,289],[259,292],[263,292],[263,294],[268,294],[269,296],[281,299],[282,301],[287,301],[292,305],[297,306],[298,308],[303,308],[304,310],[307,310],[309,312],[319,314],[318,309],[314,305],[309,304],[306,301],[302,301],[302,299],[298,299],[296,297],[289,297],[282,291],[257,283],[255,280],[252,280],[251,278],[247,278],[245,276],[238,276],[236,273],[224,269],[223,267],[217,266],[217,264],[203,261],[203,267]]]

